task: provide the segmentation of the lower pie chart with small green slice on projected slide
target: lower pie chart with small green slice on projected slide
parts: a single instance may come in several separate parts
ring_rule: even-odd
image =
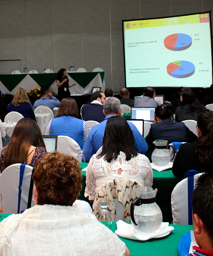
[[[186,78],[195,73],[195,65],[189,61],[173,61],[167,65],[167,73],[176,78]]]

